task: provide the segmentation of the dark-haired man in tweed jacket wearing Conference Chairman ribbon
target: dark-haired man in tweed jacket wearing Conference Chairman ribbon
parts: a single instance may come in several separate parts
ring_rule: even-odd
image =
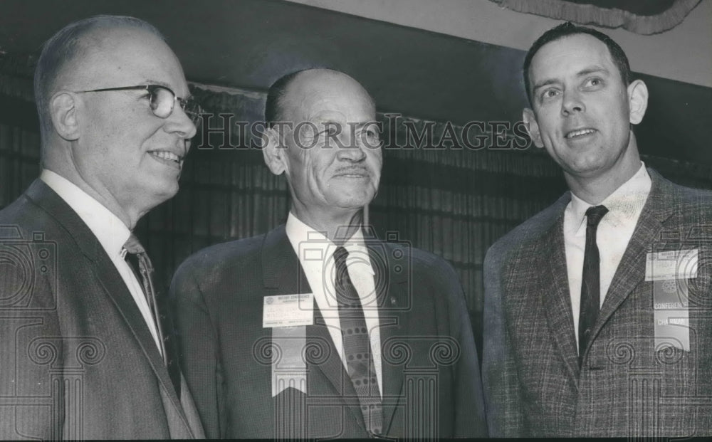
[[[571,23],[525,58],[524,120],[570,191],[486,256],[492,436],[712,432],[712,194],[644,167],[630,76],[617,43]]]

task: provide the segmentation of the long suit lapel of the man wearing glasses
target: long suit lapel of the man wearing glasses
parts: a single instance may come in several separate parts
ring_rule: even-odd
[[[39,179],[34,181],[27,190],[26,195],[47,211],[74,238],[78,248],[87,258],[95,280],[103,288],[105,294],[125,321],[131,334],[135,337],[136,344],[148,359],[159,383],[162,385],[162,389],[169,397],[174,408],[178,410],[181,421],[184,426],[189,428],[182,406],[171,383],[168,370],[156,347],[155,340],[124,280],[96,236],[76,212],[43,181]]]

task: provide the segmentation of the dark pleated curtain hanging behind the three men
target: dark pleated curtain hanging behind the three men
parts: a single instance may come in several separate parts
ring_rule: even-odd
[[[1,70],[3,66],[0,207],[37,177],[40,143],[28,68],[22,63],[20,68],[15,63],[14,70]],[[250,147],[256,138],[236,130],[238,122],[261,120],[265,93],[197,83],[191,89],[206,110],[232,115],[226,126],[231,130],[221,130],[223,117],[204,124],[184,163],[178,194],[150,211],[136,228],[164,288],[190,254],[265,233],[286,221],[289,210],[286,181],[269,172],[260,149]],[[377,117],[388,127],[387,115]],[[398,121],[394,132],[384,132],[384,167],[370,205],[370,223],[380,238],[431,251],[454,265],[481,349],[482,264],[488,247],[553,203],[565,191],[565,182],[540,149],[444,147],[438,140],[448,122],[408,116]],[[432,125],[434,140],[412,142],[408,125],[417,130]],[[409,142],[397,147],[394,137]],[[706,165],[656,157],[644,161],[680,184],[712,188],[712,168]]]

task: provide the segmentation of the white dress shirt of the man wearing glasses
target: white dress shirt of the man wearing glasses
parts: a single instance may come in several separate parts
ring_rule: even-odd
[[[122,280],[124,280],[148,326],[148,330],[151,331],[151,335],[158,346],[158,351],[161,352],[161,344],[158,340],[156,325],[146,296],[143,293],[143,288],[137,280],[135,273],[131,270],[129,263],[124,259],[126,256],[124,243],[131,235],[131,231],[126,224],[115,214],[112,214],[109,209],[86,194],[85,191],[68,179],[47,169],[42,170],[40,179],[50,186],[50,188],[79,215],[82,221],[89,227],[90,231],[94,233],[94,236],[96,236],[104,248],[104,251],[106,251],[111,262],[114,263]]]

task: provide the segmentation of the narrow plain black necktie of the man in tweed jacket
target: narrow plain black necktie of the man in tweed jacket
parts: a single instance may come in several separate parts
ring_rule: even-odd
[[[583,254],[579,315],[579,367],[601,305],[601,259],[596,244],[596,231],[598,223],[607,213],[606,206],[589,207],[586,211],[586,249]]]

